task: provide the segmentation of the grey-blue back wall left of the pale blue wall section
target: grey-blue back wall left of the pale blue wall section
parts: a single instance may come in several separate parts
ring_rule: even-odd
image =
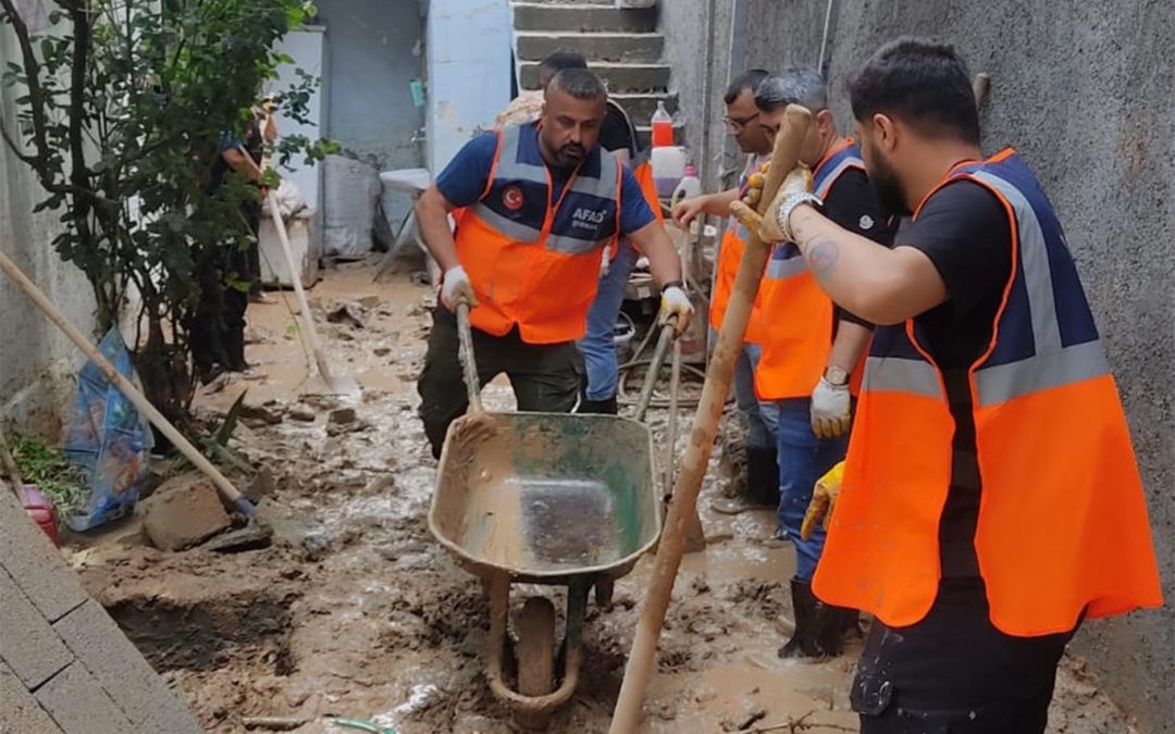
[[[327,134],[377,170],[415,168],[423,146],[424,109],[412,103],[411,80],[422,78],[423,21],[418,0],[322,0],[327,26]],[[410,204],[385,195],[384,213],[398,223]]]

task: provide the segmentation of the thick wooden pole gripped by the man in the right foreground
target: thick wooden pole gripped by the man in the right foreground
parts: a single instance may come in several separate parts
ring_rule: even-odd
[[[795,105],[787,107],[783,126],[776,136],[776,149],[759,198],[760,211],[771,203],[784,177],[795,167],[811,116],[811,113],[803,107]],[[629,652],[629,662],[624,669],[624,682],[620,685],[610,734],[632,734],[640,721],[640,706],[657,655],[657,639],[660,637],[665,612],[673,593],[673,583],[682,565],[686,519],[697,511],[698,492],[701,490],[701,480],[705,478],[710,452],[714,445],[714,433],[718,431],[718,420],[734,376],[734,362],[743,348],[743,336],[751,317],[751,307],[759,294],[759,278],[767,263],[767,245],[759,240],[758,233],[751,233],[723,318],[723,328],[718,334],[718,346],[706,369],[706,382],[701,388],[701,400],[690,433],[690,446],[686,449],[677,485],[673,487],[669,518],[665,520],[665,531],[657,547],[649,594],[645,597],[632,649]]]

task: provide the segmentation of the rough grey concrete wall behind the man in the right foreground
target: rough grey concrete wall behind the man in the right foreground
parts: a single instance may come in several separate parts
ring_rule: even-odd
[[[814,63],[825,0],[752,5],[748,61]],[[992,75],[985,149],[1015,147],[1065,223],[1129,418],[1168,604],[1175,599],[1173,28],[1169,0],[834,0],[828,54],[834,112],[846,129],[846,75],[899,35],[955,43],[973,73]],[[1088,622],[1074,649],[1142,730],[1175,732],[1170,606]]]

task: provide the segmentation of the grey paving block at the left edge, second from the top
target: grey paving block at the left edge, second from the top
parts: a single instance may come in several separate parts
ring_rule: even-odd
[[[0,571],[0,659],[27,688],[36,688],[73,655],[15,581]]]

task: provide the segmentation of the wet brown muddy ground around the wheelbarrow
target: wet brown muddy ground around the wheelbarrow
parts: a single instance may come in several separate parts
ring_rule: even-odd
[[[294,729],[303,734],[345,730],[329,716],[403,734],[515,730],[483,675],[482,587],[427,524],[436,464],[415,415],[415,378],[429,292],[403,275],[376,284],[372,274],[370,263],[340,265],[310,291],[327,350],[361,396],[316,395],[322,385],[307,381],[286,294],[250,307],[248,358],[258,375],[197,398],[215,418],[248,390],[233,446],[271,478],[257,489],[268,490],[264,512],[286,518],[273,546],[164,553],[130,521],[69,548],[89,592],[212,732],[246,730],[250,716],[303,721]],[[504,384],[485,395],[490,408],[510,408]],[[352,408],[354,419],[344,411],[331,420],[340,408]],[[650,412],[658,443],[666,417]],[[690,418],[680,411],[679,436]],[[678,577],[642,730],[855,732],[846,692],[860,642],[828,662],[777,658],[792,553],[764,543],[770,513],[709,511],[724,484],[719,454],[701,498],[710,545],[686,557]],[[617,584],[610,611],[589,605],[583,675],[550,730],[607,729],[650,567],[646,558]],[[543,593],[557,607],[564,599],[515,587],[515,610]],[[1055,733],[1133,730],[1077,660],[1061,671],[1052,721]]]

